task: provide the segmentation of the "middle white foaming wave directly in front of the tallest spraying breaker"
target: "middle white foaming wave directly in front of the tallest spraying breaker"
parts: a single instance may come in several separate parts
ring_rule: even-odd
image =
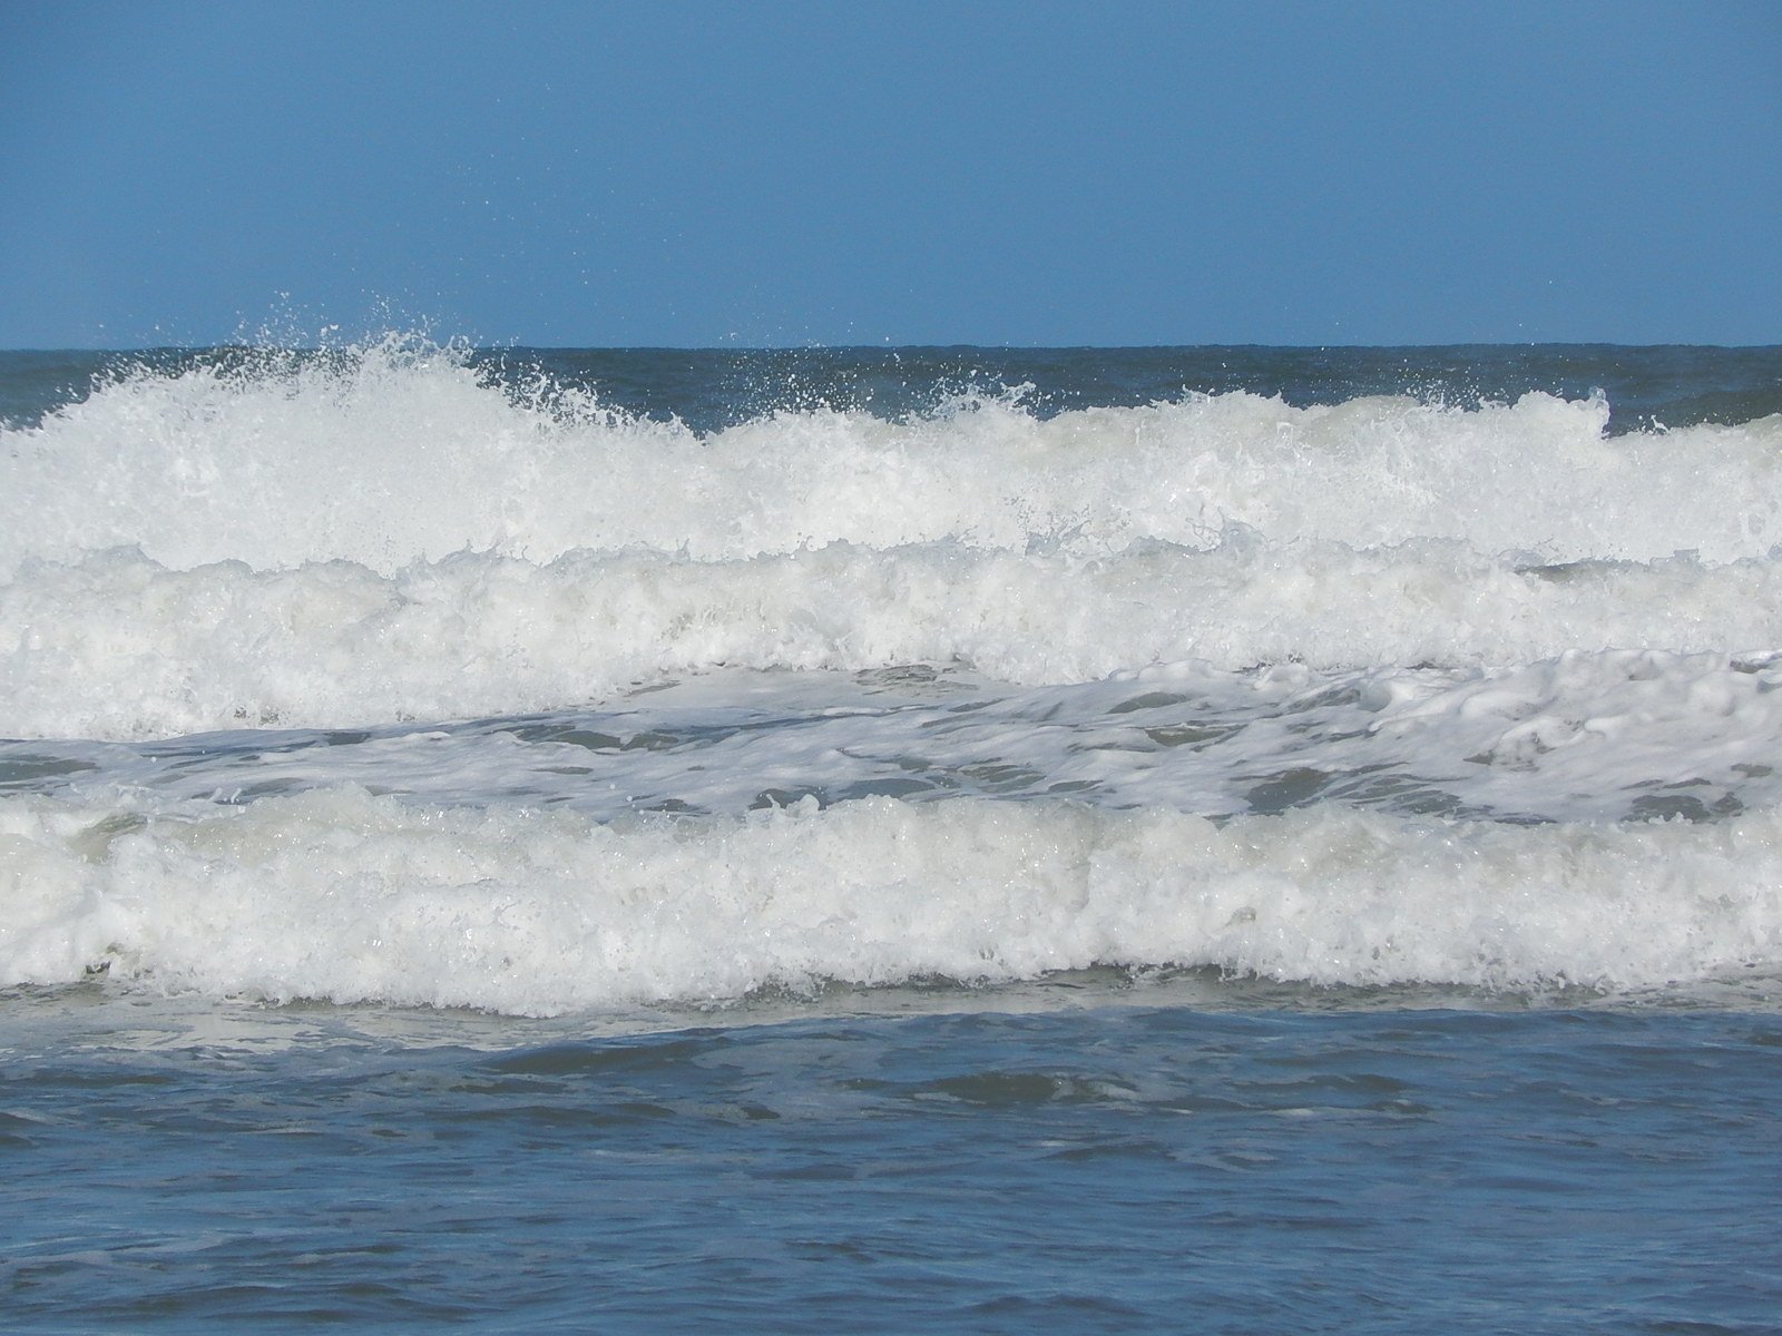
[[[1032,686],[1176,659],[1477,666],[1641,645],[1782,645],[1782,565],[1554,572],[1454,543],[1242,536],[1103,559],[953,543],[725,563],[460,554],[396,575],[344,561],[168,570],[112,552],[0,584],[0,736],[542,711],[715,664],[957,663]]]

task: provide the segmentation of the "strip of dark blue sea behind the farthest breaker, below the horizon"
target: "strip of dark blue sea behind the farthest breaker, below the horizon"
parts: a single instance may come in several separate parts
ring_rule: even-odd
[[[298,360],[351,363],[358,351],[150,349],[0,354],[0,424],[36,422],[94,385],[143,367],[214,365],[266,374]],[[472,365],[517,394],[592,390],[622,413],[677,417],[713,431],[777,410],[927,413],[960,395],[1019,392],[1039,417],[1073,408],[1173,403],[1244,390],[1331,404],[1402,394],[1472,408],[1541,392],[1609,399],[1613,433],[1663,424],[1750,422],[1782,413],[1782,346],[1622,347],[1490,344],[1456,347],[807,347],[479,349]]]

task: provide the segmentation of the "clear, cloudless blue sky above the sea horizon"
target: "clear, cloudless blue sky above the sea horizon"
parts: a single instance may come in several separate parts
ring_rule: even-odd
[[[1782,342],[1777,0],[0,0],[0,347]]]

